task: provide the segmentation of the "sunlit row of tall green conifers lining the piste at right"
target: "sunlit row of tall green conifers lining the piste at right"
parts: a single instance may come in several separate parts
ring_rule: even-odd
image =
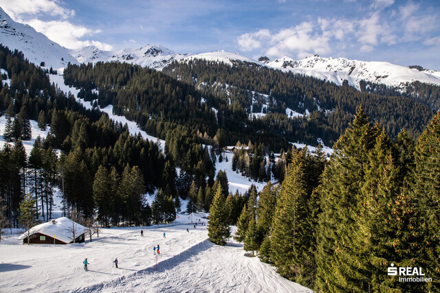
[[[440,114],[415,143],[406,130],[392,140],[359,108],[330,161],[292,151],[281,187],[246,203],[235,237],[318,292],[439,292],[439,139]],[[402,282],[391,266],[430,279]]]

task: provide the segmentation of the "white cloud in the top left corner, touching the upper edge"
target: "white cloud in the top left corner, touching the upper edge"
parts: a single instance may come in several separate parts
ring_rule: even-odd
[[[63,19],[75,15],[74,10],[61,7],[57,0],[0,0],[0,6],[12,19],[19,19],[23,14],[45,13],[51,16],[61,16]]]

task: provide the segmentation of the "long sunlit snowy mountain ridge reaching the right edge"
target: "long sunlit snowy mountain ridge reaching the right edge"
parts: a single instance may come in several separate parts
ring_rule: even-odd
[[[402,83],[426,82],[428,84],[440,84],[440,72],[434,70],[419,71],[416,68],[408,68],[401,65],[393,65],[388,62],[365,62],[350,60],[347,58],[322,58],[314,55],[303,60],[293,60],[283,57],[270,61],[267,57],[259,60],[267,66],[285,71],[292,71],[304,75],[314,76],[321,80],[328,80],[336,84],[342,84],[348,80],[349,84],[359,87],[360,80],[386,84],[388,86],[400,86]]]

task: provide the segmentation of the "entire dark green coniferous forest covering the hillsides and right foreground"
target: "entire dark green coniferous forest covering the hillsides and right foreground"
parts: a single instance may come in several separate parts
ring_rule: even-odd
[[[163,73],[118,62],[69,65],[65,83],[94,104],[87,110],[50,83],[52,69],[19,51],[1,46],[0,67],[10,80],[0,83],[2,135],[9,142],[0,151],[3,226],[19,226],[23,202],[35,218],[52,218],[55,189],[66,214],[102,226],[206,211],[212,242],[227,244],[229,226],[236,225],[234,238],[250,256],[318,292],[440,292],[436,87],[432,95],[417,83],[406,93],[380,85],[373,93],[197,60],[175,62]],[[165,139],[163,152],[100,112],[109,104]],[[287,108],[309,115],[288,118]],[[30,120],[50,132],[26,154]],[[333,145],[330,157],[321,146],[311,154],[289,144],[316,145],[319,138]],[[252,186],[232,194],[228,175],[215,176],[226,145],[236,146],[228,162],[234,171],[268,181],[262,191]],[[144,194],[153,191],[150,206]],[[186,207],[181,199],[188,199]],[[399,282],[386,273],[391,263],[423,268],[431,281]]]

